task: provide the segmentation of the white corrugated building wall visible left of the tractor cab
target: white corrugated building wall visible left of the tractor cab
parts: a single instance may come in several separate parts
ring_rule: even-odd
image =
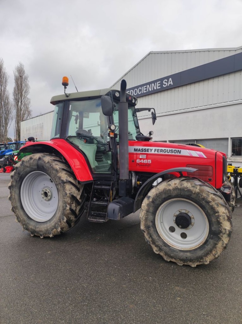
[[[54,111],[20,122],[21,141],[34,136],[38,141],[50,139]]]

